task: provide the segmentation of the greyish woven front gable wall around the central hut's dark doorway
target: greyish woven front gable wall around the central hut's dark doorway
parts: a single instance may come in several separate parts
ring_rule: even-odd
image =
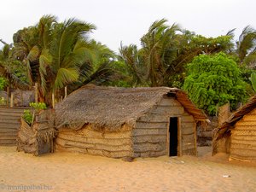
[[[150,113],[137,120],[136,128],[132,130],[134,156],[154,157],[168,154],[166,142],[170,117],[181,118],[182,154],[195,154],[193,116],[185,112],[183,106],[174,98],[164,97]]]

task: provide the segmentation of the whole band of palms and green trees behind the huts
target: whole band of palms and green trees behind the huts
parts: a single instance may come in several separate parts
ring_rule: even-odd
[[[169,86],[187,90],[208,113],[230,102],[236,108],[254,95],[256,31],[246,26],[236,41],[234,31],[216,38],[190,32],[166,19],[155,20],[142,36],[141,48],[123,45],[116,55],[95,39],[96,26],[74,18],[59,22],[44,15],[35,26],[20,29],[14,43],[0,50],[0,89],[32,89],[38,83],[39,101],[51,103],[84,84]],[[245,81],[245,82],[244,82]]]

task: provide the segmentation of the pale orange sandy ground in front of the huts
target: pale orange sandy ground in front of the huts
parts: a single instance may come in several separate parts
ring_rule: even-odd
[[[0,191],[256,191],[255,164],[212,158],[210,148],[199,155],[125,162],[68,153],[35,157],[0,147]]]

